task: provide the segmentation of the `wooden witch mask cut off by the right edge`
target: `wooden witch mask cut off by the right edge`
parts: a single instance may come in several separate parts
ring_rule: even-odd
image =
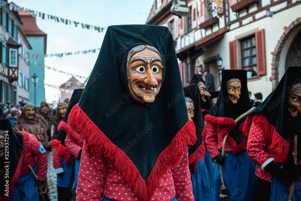
[[[288,104],[288,110],[291,117],[296,118],[298,116],[298,112],[299,116],[301,115],[301,83],[295,84],[290,90]]]

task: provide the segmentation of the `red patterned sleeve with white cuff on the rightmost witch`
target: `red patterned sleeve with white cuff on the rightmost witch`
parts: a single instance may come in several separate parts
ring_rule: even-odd
[[[248,136],[247,153],[250,159],[256,163],[255,174],[259,178],[271,181],[271,173],[264,168],[274,161],[275,152],[270,149],[272,141],[266,139],[263,130],[262,125],[252,123]]]

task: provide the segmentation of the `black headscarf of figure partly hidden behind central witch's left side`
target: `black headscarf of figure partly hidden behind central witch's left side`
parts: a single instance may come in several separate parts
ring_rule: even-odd
[[[67,124],[69,113],[70,113],[71,109],[73,108],[73,106],[76,105],[79,102],[79,99],[80,99],[80,96],[82,96],[82,91],[83,90],[84,89],[75,89],[73,91],[71,99],[70,99],[70,103],[69,103],[68,108],[67,108],[67,111],[66,111],[65,116],[62,120],[64,122],[66,122],[66,124]],[[55,139],[60,140],[61,145],[66,146],[65,145],[66,136],[67,136],[66,131],[64,129],[61,129],[59,131],[59,133],[57,134],[57,137]]]

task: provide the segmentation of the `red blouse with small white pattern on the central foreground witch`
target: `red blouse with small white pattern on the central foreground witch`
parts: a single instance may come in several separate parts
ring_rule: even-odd
[[[106,165],[107,163],[107,165]],[[79,167],[76,200],[101,200],[102,195],[117,201],[138,200],[132,189],[126,184],[122,174],[113,161],[106,162],[102,155],[95,154],[84,143]],[[188,153],[183,153],[181,161],[160,177],[154,195],[150,200],[194,200]]]

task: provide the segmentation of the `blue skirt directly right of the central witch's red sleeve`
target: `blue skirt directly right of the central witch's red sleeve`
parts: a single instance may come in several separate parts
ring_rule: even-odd
[[[195,201],[212,200],[211,181],[203,159],[196,164],[196,170],[191,176],[191,183]]]

